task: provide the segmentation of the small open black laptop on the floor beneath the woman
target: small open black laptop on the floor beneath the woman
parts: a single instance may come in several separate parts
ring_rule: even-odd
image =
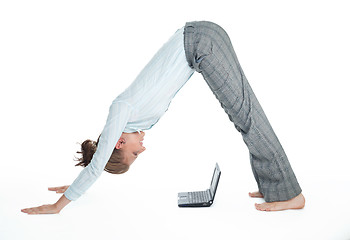
[[[213,204],[216,189],[219,184],[221,171],[216,163],[210,188],[206,191],[180,192],[178,193],[179,207],[210,207]]]

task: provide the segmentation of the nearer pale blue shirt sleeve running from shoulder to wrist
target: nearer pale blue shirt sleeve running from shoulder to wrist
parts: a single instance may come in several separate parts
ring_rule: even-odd
[[[93,158],[74,180],[64,195],[71,201],[77,200],[102,174],[131,114],[131,107],[114,100],[109,108],[106,125]]]

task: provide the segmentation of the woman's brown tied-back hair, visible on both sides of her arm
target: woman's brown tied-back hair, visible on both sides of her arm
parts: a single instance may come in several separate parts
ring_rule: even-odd
[[[94,156],[100,137],[98,137],[97,142],[90,139],[85,140],[81,144],[81,151],[77,153],[81,154],[80,158],[76,158],[76,161],[79,161],[75,166],[86,167],[91,162],[92,157]],[[112,174],[122,174],[129,170],[129,166],[123,163],[124,154],[121,149],[114,148],[111,157],[109,158],[104,170]]]

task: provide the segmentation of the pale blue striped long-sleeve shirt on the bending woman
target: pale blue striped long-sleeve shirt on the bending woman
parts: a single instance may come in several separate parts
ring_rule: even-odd
[[[168,110],[171,100],[195,70],[187,63],[184,27],[162,46],[134,82],[112,102],[106,125],[90,164],[64,195],[76,200],[102,174],[123,132],[148,130]]]

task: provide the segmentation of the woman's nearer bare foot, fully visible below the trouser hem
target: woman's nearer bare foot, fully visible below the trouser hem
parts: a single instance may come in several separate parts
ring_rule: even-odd
[[[302,209],[305,206],[305,198],[303,194],[299,194],[295,198],[281,202],[265,202],[261,204],[255,203],[255,208],[260,211],[282,211],[287,209]]]

